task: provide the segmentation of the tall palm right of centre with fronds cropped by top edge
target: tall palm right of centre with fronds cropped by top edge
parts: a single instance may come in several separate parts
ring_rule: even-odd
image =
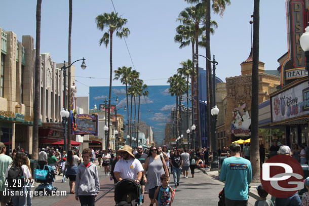
[[[205,18],[205,31],[206,31],[206,57],[211,59],[210,53],[210,28],[211,28],[211,17],[210,17],[210,1],[209,0],[184,0],[188,3],[198,3],[197,7],[205,8],[206,11],[206,18]],[[213,0],[212,9],[214,13],[218,14],[222,17],[225,11],[226,5],[230,5],[230,0]],[[206,63],[206,73],[207,73],[207,116],[210,117],[210,109],[211,106],[216,104],[213,102],[213,94],[212,94],[212,74],[211,74],[211,63],[207,61]],[[212,122],[212,121],[211,121]],[[208,136],[211,137],[211,133],[214,132],[213,129],[210,130],[210,121],[207,121],[207,128],[208,129]],[[208,138],[211,140],[211,138]],[[209,142],[209,145],[210,142]],[[216,148],[214,148],[214,151]]]

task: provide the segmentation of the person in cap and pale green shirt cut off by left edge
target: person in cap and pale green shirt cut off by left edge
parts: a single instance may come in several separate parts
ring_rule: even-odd
[[[3,142],[0,142],[0,203],[1,206],[6,206],[7,202],[10,202],[11,196],[10,195],[3,195],[3,192],[6,190],[5,185],[5,172],[7,171],[8,167],[12,163],[12,158],[6,155],[6,146]]]

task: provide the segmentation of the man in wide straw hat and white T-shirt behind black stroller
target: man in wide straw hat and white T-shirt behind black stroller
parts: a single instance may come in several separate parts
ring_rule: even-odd
[[[140,161],[132,154],[132,147],[125,145],[117,151],[117,154],[122,157],[114,168],[114,176],[117,181],[128,178],[140,183],[144,169]]]

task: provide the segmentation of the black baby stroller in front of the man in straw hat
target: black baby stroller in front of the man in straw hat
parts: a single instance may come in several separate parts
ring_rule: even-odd
[[[141,198],[140,185],[131,179],[124,179],[115,184],[116,206],[136,206]]]

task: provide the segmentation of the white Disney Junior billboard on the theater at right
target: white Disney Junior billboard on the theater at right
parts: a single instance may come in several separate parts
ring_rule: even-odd
[[[309,113],[309,87],[305,81],[272,97],[272,122]]]

